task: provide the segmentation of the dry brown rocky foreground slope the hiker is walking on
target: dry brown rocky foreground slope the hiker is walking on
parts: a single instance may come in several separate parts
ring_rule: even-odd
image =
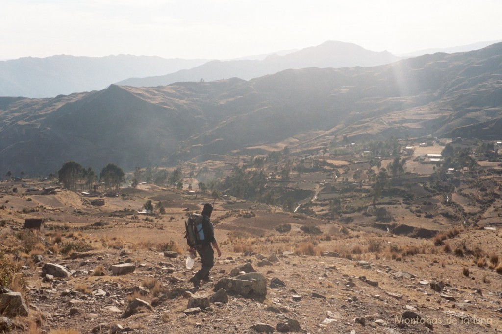
[[[197,211],[202,199],[179,196],[162,218],[150,219],[117,213],[140,201],[132,197],[107,200],[98,210],[72,194],[40,201],[2,196],[2,254],[15,261],[26,281],[25,288],[11,284],[21,294],[8,289],[0,294],[4,330],[502,331],[497,273],[502,270],[496,255],[502,236],[495,228],[445,230],[443,240],[410,238],[274,213],[253,203],[227,203],[214,212],[223,255],[215,261],[212,281],[194,290],[181,229],[186,208]],[[25,207],[39,211],[24,212]],[[26,237],[33,234],[23,234],[24,218],[41,214],[51,217],[44,230]],[[278,232],[284,223],[292,229]],[[302,226],[319,226],[321,233]],[[82,244],[90,249],[78,249]],[[193,270],[199,267],[197,260]]]

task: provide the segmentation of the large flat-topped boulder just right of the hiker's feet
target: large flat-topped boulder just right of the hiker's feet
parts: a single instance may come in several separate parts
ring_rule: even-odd
[[[235,278],[224,277],[214,286],[214,290],[225,289],[228,293],[240,294],[244,297],[266,296],[267,278],[257,272],[239,275]]]

